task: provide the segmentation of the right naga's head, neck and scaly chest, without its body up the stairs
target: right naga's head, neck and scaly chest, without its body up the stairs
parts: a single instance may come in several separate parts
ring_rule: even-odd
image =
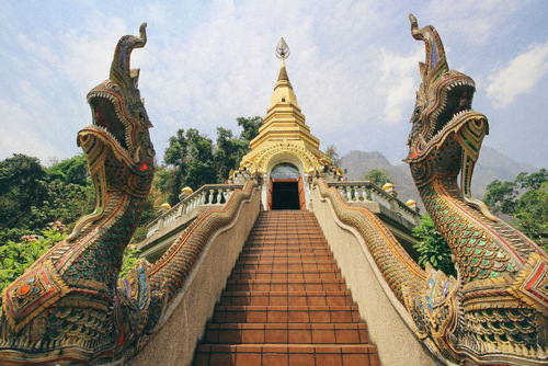
[[[412,36],[425,43],[426,61],[420,62],[404,161],[458,273],[448,279],[437,272],[423,295],[408,293],[416,333],[455,363],[547,364],[547,254],[471,197],[473,167],[489,131],[486,116],[471,110],[475,82],[448,68],[433,26],[419,28],[409,19]]]

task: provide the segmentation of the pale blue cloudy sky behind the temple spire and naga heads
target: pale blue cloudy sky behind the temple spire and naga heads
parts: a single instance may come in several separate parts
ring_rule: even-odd
[[[536,1],[5,1],[0,0],[0,159],[44,164],[80,152],[85,94],[109,77],[117,39],[148,23],[134,52],[161,161],[179,128],[215,139],[236,117],[264,116],[281,36],[298,102],[321,149],[407,156],[424,45],[408,14],[434,25],[449,67],[475,79],[484,144],[548,168],[548,2]],[[481,159],[481,156],[480,156]]]

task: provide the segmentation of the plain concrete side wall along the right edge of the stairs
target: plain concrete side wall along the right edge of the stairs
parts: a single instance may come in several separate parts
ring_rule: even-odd
[[[381,365],[438,365],[415,336],[412,319],[393,296],[367,251],[365,240],[352,227],[342,224],[331,203],[312,190],[312,211],[339,267],[367,323],[369,340],[377,346]]]

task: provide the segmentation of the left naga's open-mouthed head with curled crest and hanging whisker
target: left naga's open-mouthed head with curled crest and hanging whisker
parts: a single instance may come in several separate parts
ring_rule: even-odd
[[[125,35],[116,45],[109,80],[88,93],[93,123],[78,133],[96,191],[95,210],[82,217],[68,241],[89,222],[103,217],[109,192],[124,192],[145,198],[152,184],[155,149],[148,129],[152,127],[137,82],[139,69],[129,68],[134,48],[147,43],[147,23],[139,36]]]

